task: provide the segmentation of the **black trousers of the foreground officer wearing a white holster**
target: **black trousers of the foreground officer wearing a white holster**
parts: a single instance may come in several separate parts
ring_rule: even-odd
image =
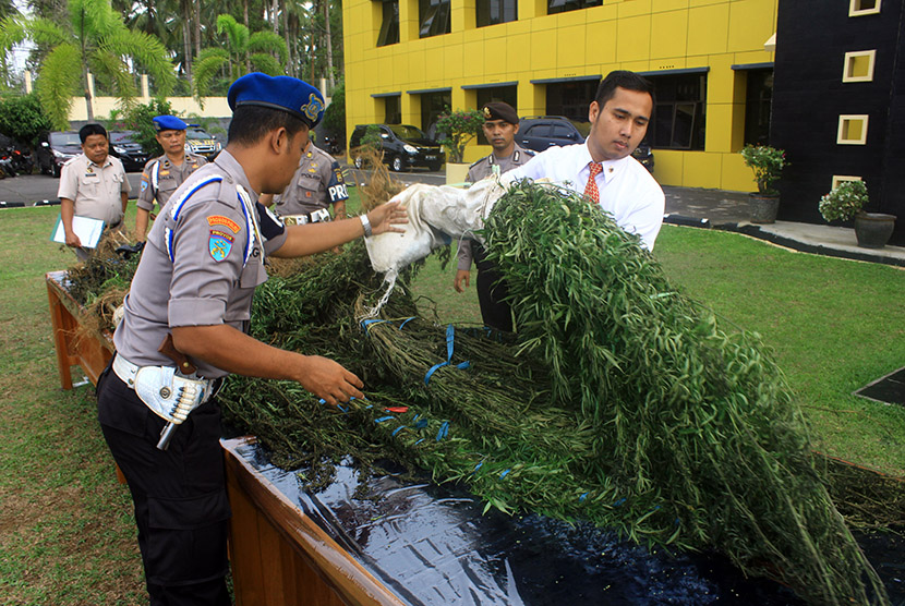
[[[157,449],[166,422],[108,366],[97,383],[100,427],[129,483],[152,606],[229,606],[230,518],[220,409],[195,409]]]

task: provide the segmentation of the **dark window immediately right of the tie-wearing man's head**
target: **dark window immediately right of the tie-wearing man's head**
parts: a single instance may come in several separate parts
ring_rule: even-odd
[[[707,74],[645,75],[653,83],[656,106],[648,138],[662,149],[703,150]]]

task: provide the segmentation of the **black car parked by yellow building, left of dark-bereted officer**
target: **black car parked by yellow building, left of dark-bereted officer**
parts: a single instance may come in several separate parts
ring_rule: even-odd
[[[355,168],[362,168],[363,159],[359,154],[361,140],[370,124],[359,124],[349,138],[349,149]],[[381,147],[384,162],[399,172],[408,168],[427,168],[439,170],[446,160],[443,148],[424,132],[410,124],[374,124],[379,129]]]

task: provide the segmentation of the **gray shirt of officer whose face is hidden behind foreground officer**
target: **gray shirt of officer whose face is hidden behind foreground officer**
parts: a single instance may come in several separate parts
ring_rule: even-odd
[[[333,156],[312,143],[302,154],[292,183],[280,195],[274,196],[280,217],[307,215],[349,199],[342,169]]]

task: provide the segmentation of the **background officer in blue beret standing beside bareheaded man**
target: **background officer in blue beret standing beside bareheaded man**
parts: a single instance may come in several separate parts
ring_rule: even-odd
[[[185,130],[189,125],[180,118],[157,116],[152,122],[164,155],[148,160],[142,170],[135,215],[135,233],[140,242],[145,240],[155,204],[162,207],[186,177],[207,163],[204,156],[185,152]]]

